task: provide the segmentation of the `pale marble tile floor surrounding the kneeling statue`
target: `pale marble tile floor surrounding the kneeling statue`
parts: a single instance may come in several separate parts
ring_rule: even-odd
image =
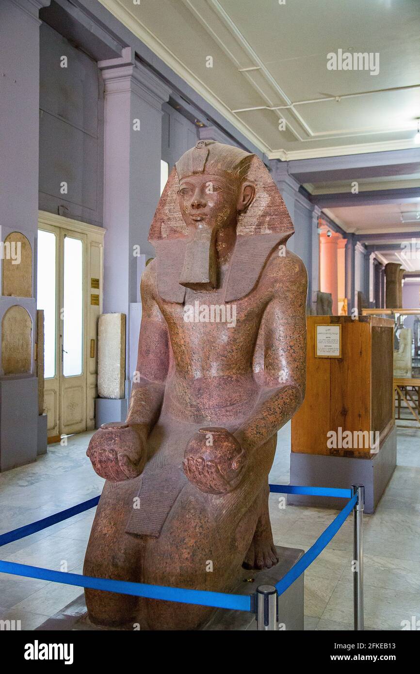
[[[103,480],[86,457],[91,433],[49,446],[36,463],[0,474],[0,532],[34,522],[98,493]],[[290,424],[278,434],[274,483],[289,483]],[[307,550],[334,510],[287,505],[270,495],[274,543]],[[1,548],[0,558],[82,573],[94,510]],[[398,429],[398,466],[374,515],[365,516],[365,628],[401,630],[420,621],[420,429]],[[353,630],[353,524],[344,522],[305,572],[305,629]],[[0,620],[34,630],[80,588],[0,574]],[[420,623],[419,623],[420,624]]]

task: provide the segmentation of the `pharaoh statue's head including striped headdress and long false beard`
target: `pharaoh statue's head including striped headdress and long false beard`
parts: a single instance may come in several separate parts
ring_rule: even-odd
[[[175,164],[150,227],[158,292],[182,302],[185,287],[212,290],[224,265],[225,301],[242,297],[276,243],[291,234],[287,208],[260,158],[199,141]]]

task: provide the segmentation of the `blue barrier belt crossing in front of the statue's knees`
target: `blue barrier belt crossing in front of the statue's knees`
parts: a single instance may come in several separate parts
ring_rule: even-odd
[[[0,561],[0,572],[26,578],[40,578],[65,585],[76,585],[82,588],[104,590],[144,596],[147,599],[164,599],[178,601],[181,604],[199,604],[212,606],[217,609],[235,609],[237,611],[251,611],[251,596],[249,594],[227,594],[224,592],[210,592],[210,590],[189,590],[187,588],[172,588],[164,585],[148,585],[146,583],[132,583],[127,580],[111,580],[110,578],[92,578],[81,574],[66,574],[63,571],[42,569],[38,566],[17,564],[12,561]]]

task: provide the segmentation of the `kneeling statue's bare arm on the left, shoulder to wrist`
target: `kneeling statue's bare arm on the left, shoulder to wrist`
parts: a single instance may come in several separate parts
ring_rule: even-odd
[[[148,435],[158,418],[169,369],[169,333],[156,303],[156,272],[152,262],[142,276],[142,323],[138,361],[129,400],[126,422]]]

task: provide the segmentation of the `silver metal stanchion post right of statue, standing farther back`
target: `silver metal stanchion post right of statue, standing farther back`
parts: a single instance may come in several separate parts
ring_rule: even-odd
[[[353,607],[355,630],[363,632],[363,510],[365,509],[365,487],[352,485],[353,495],[357,493],[357,503],[353,508]]]

